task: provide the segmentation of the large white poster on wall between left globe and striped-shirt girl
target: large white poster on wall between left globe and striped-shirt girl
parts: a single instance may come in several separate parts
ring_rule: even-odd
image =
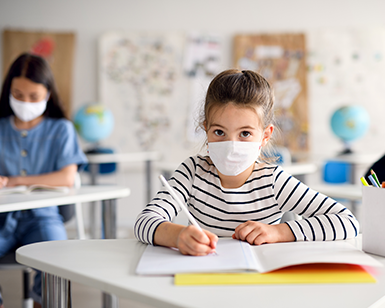
[[[180,34],[108,32],[99,40],[99,100],[115,118],[108,139],[117,152],[186,148],[186,92]]]

